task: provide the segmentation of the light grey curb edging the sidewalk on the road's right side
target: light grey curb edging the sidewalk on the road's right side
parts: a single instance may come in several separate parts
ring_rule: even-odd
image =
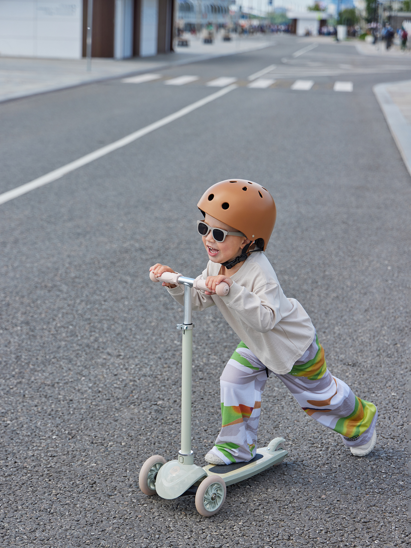
[[[399,110],[395,102],[391,99],[390,94],[387,92],[387,88],[397,83],[404,82],[376,84],[373,86],[373,92],[383,111],[385,121],[387,122],[404,164],[406,164],[408,173],[411,175],[411,124],[407,122],[401,110]]]

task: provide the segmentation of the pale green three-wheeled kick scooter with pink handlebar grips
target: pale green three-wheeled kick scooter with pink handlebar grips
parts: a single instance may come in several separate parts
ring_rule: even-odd
[[[184,322],[177,324],[182,330],[181,363],[181,449],[178,458],[165,461],[160,455],[153,455],[141,466],[139,487],[146,495],[156,493],[163,499],[176,499],[182,495],[195,495],[196,508],[202,516],[213,516],[224,504],[226,486],[262,472],[270,466],[277,466],[286,458],[283,438],[274,438],[267,447],[257,449],[248,463],[228,465],[197,466],[191,450],[191,362],[193,327],[191,321],[192,290],[208,291],[206,281],[201,277],[186,278],[181,274],[165,272],[158,278],[150,273],[153,282],[168,282],[184,286]],[[227,295],[230,287],[220,283],[217,295]]]

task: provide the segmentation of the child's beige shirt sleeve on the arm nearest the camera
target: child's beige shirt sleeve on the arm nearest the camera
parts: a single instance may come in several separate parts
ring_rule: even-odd
[[[278,284],[266,283],[253,292],[233,282],[230,293],[221,299],[238,318],[260,333],[268,333],[281,320]]]

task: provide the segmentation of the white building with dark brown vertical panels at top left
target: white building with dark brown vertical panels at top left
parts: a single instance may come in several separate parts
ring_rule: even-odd
[[[0,55],[85,56],[90,0],[0,0]],[[93,0],[93,57],[173,49],[174,0]]]

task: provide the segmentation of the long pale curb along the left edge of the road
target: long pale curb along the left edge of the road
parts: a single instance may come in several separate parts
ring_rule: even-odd
[[[122,72],[122,73],[119,73],[119,74],[116,74],[116,75],[100,76],[100,77],[96,77],[96,78],[93,78],[93,79],[90,79],[90,80],[87,80],[87,81],[84,81],[84,82],[75,82],[75,83],[72,83],[72,84],[56,85],[53,88],[43,89],[43,90],[36,91],[36,92],[27,92],[27,93],[22,93],[20,95],[13,95],[13,96],[10,96],[10,97],[4,97],[3,99],[0,98],[0,103],[7,102],[7,101],[15,101],[15,100],[18,100],[18,99],[24,99],[26,97],[32,97],[33,95],[42,95],[44,93],[58,92],[62,89],[78,88],[81,85],[89,85],[89,84],[96,84],[96,83],[99,83],[99,82],[107,82],[109,80],[117,80],[117,79],[120,79],[120,78],[127,78],[129,76],[138,76],[139,74],[146,74],[148,72],[157,72],[159,70],[164,70],[165,68],[170,68],[170,67],[174,67],[174,66],[181,66],[181,65],[190,65],[191,63],[198,63],[198,62],[201,62],[201,61],[209,61],[210,59],[218,59],[219,57],[227,57],[229,55],[238,55],[238,54],[241,54],[241,53],[256,52],[259,49],[270,48],[272,45],[276,45],[275,42],[264,43],[264,44],[261,44],[257,48],[244,49],[241,52],[229,52],[229,53],[218,53],[218,54],[207,54],[207,53],[199,54],[199,55],[193,56],[192,59],[180,59],[180,60],[176,59],[175,61],[165,62],[162,65],[158,65],[158,66],[153,67],[153,68],[141,68],[139,70],[132,70],[132,71],[128,71],[128,72]]]

